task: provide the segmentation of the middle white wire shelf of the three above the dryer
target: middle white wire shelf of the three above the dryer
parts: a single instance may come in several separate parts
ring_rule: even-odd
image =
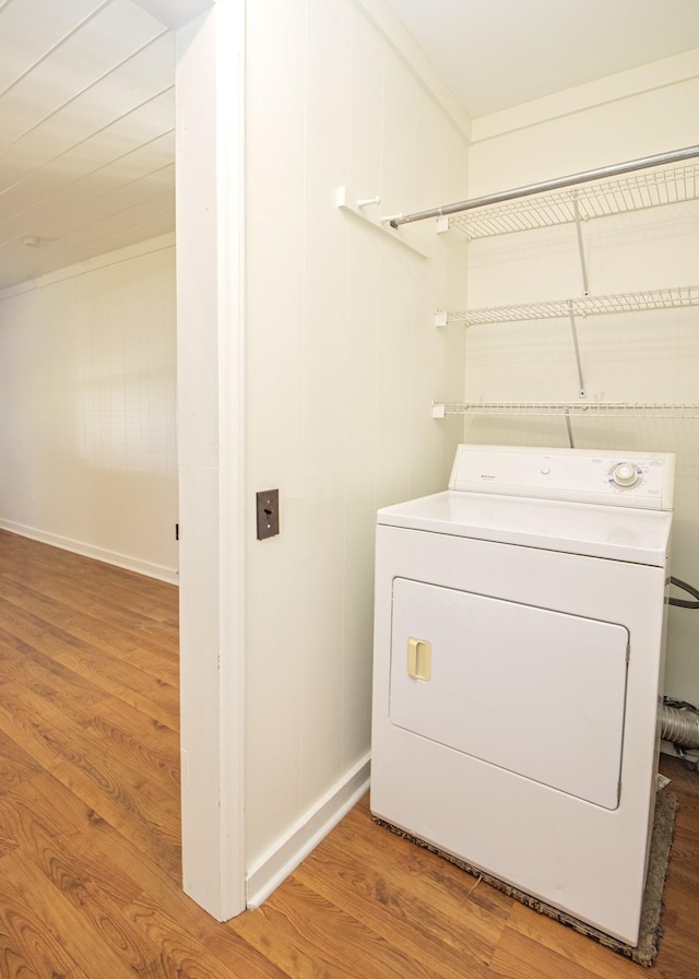
[[[594,316],[605,312],[640,312],[649,309],[671,309],[699,305],[699,285],[678,285],[636,293],[617,293],[609,296],[580,296],[573,299],[552,299],[542,303],[523,303],[517,306],[485,306],[479,309],[461,309],[436,312],[437,326],[464,322],[482,323],[523,322],[534,319]]]

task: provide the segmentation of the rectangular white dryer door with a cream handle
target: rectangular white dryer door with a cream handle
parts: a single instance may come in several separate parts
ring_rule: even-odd
[[[391,632],[393,724],[616,809],[624,626],[396,578]]]

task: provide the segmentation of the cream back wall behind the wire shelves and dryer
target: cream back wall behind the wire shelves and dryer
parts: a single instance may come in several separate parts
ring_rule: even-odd
[[[697,142],[699,51],[477,120],[469,196],[680,149]],[[592,294],[696,285],[699,204],[583,227]],[[469,305],[582,294],[572,226],[472,243]],[[697,308],[579,321],[590,400],[696,402]],[[469,328],[466,400],[576,400],[567,320]],[[573,422],[576,445],[677,453],[673,574],[699,585],[699,423]],[[561,420],[473,418],[469,440],[567,445]],[[666,692],[699,704],[696,613],[671,609]]]

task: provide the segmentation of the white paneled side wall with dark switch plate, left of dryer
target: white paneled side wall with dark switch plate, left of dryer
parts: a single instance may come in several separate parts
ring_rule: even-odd
[[[247,858],[256,900],[369,751],[377,507],[445,487],[460,425],[464,246],[423,259],[335,207],[386,214],[459,199],[466,139],[379,2],[247,10]],[[382,26],[380,26],[382,25]],[[388,32],[388,34],[387,34]],[[258,542],[254,494],[279,487]],[[281,856],[282,854],[282,856]],[[289,863],[285,863],[288,854]]]

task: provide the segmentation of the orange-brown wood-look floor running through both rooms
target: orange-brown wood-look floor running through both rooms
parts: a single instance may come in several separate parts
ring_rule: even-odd
[[[257,911],[180,890],[177,591],[0,531],[0,979],[637,979],[376,826],[364,800]],[[699,777],[651,979],[699,979]]]

